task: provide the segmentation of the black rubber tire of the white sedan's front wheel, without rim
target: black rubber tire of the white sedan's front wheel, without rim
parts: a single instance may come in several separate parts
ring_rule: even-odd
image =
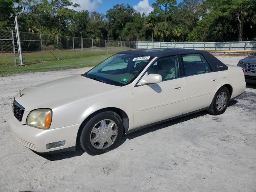
[[[91,131],[95,124],[97,124],[101,120],[105,120],[105,119],[112,120],[116,123],[118,133],[117,133],[116,139],[114,140],[112,145],[110,145],[108,148],[98,149],[98,148],[95,148],[90,142]],[[96,114],[94,117],[92,117],[84,125],[81,135],[80,135],[80,145],[81,145],[82,149],[85,150],[90,155],[103,154],[103,153],[108,152],[116,147],[116,145],[118,144],[118,142],[121,140],[121,138],[123,136],[123,132],[124,132],[124,127],[122,124],[122,119],[120,118],[120,116],[117,113],[111,112],[111,111],[101,112],[99,114]]]

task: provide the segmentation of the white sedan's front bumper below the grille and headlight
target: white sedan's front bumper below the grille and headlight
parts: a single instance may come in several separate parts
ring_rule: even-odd
[[[28,125],[21,124],[11,112],[9,114],[8,123],[13,135],[20,144],[33,151],[39,153],[50,153],[53,151],[64,151],[64,149],[71,149],[76,146],[76,136],[79,129],[79,124],[73,126],[66,126],[56,129],[42,130]],[[66,141],[64,146],[56,148],[46,148],[46,144]]]

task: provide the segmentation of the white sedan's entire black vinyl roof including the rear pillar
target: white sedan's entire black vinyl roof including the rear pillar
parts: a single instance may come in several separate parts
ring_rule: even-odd
[[[216,71],[224,71],[228,69],[224,63],[214,57],[212,54],[202,50],[194,50],[194,49],[178,49],[178,48],[169,48],[169,49],[141,49],[141,50],[128,50],[118,52],[118,54],[136,54],[142,56],[151,56],[151,57],[167,57],[172,55],[182,55],[182,54],[202,54],[204,58],[208,61],[214,72]]]

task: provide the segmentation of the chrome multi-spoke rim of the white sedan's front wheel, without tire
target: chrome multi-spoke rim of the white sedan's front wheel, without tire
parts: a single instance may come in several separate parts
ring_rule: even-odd
[[[90,142],[96,149],[105,149],[116,140],[118,127],[113,120],[104,119],[96,123],[90,134]]]

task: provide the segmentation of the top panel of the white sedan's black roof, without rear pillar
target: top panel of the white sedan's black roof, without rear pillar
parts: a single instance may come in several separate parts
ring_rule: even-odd
[[[168,48],[168,49],[137,49],[137,50],[128,50],[122,51],[118,54],[135,54],[135,55],[142,55],[142,56],[151,56],[151,57],[166,57],[176,54],[195,54],[195,53],[202,53],[201,50],[194,50],[194,49],[179,49],[179,48]]]

